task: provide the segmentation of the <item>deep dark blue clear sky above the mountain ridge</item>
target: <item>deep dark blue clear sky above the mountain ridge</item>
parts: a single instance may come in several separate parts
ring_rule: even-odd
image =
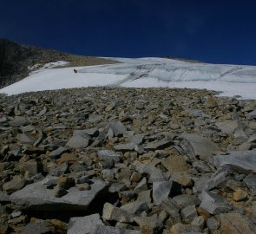
[[[0,0],[0,37],[80,55],[256,65],[256,1]]]

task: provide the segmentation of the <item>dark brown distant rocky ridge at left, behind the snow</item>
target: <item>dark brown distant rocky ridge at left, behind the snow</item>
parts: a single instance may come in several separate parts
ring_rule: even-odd
[[[22,45],[7,39],[0,39],[0,88],[8,86],[27,77],[36,64],[40,68],[45,63],[65,61],[69,66],[89,66],[116,63],[110,60],[92,57],[69,55],[51,49]]]

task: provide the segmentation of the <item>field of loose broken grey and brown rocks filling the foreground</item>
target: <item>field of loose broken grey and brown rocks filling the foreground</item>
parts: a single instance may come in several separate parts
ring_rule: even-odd
[[[256,101],[81,88],[0,97],[0,233],[255,233]]]

